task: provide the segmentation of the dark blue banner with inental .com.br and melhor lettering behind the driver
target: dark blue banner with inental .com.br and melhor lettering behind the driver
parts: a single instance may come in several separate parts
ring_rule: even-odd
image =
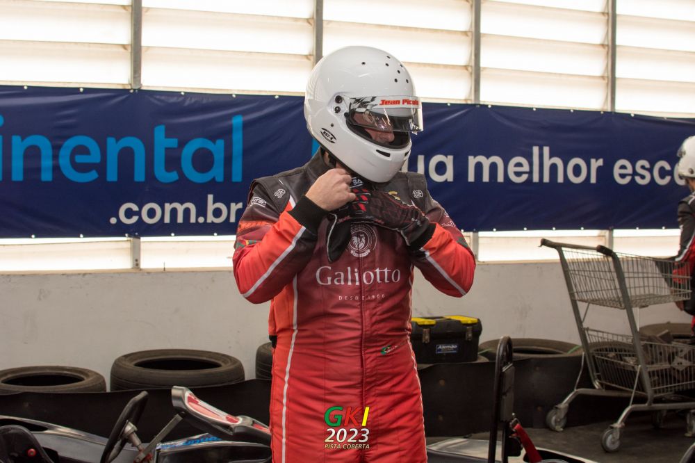
[[[0,87],[0,237],[234,234],[305,163],[302,97]],[[424,105],[409,170],[466,230],[677,227],[695,120]]]

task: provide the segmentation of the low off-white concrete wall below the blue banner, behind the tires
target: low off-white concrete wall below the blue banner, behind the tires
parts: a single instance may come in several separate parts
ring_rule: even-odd
[[[579,342],[559,263],[480,263],[464,298],[439,293],[417,275],[414,315],[475,316],[481,341],[514,337]],[[640,324],[689,322],[673,304],[641,309]],[[107,379],[127,352],[192,348],[227,352],[254,377],[267,342],[268,304],[236,289],[231,270],[0,275],[0,369],[81,366]],[[627,333],[623,311],[592,307],[587,325]]]

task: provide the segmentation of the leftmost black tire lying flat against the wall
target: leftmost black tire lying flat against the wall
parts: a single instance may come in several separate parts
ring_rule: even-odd
[[[0,370],[0,394],[17,392],[104,392],[106,380],[76,366],[21,366]]]

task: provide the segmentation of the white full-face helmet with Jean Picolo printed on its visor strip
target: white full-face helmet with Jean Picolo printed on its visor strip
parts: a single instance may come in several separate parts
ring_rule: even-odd
[[[402,168],[410,133],[423,129],[422,105],[408,70],[371,47],[345,47],[316,64],[306,84],[304,117],[322,147],[377,183]]]

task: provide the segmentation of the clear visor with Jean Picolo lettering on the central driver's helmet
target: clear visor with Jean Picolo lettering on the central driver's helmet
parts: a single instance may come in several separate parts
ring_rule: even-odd
[[[350,123],[383,132],[423,130],[422,104],[418,97],[350,98]]]

